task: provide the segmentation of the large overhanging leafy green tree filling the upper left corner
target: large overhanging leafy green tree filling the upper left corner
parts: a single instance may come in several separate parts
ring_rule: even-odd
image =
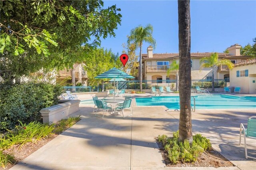
[[[103,5],[102,0],[0,1],[0,67],[10,70],[1,76],[72,68],[83,61],[76,55],[80,46],[90,51],[101,37],[115,36],[121,23],[120,9]]]

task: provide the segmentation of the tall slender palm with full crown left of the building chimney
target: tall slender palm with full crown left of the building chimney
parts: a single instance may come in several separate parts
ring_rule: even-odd
[[[130,36],[128,36],[128,45],[130,43],[136,44],[140,47],[140,91],[142,91],[142,43],[148,42],[153,47],[156,46],[156,40],[152,37],[153,27],[152,25],[148,24],[146,27],[142,27],[139,25],[138,27],[134,28],[130,32]]]

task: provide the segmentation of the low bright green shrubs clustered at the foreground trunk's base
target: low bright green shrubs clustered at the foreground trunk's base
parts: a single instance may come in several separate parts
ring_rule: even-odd
[[[202,152],[210,150],[212,147],[210,140],[201,134],[194,135],[191,144],[188,140],[184,140],[184,143],[179,142],[179,131],[174,132],[172,138],[168,138],[165,134],[159,135],[158,142],[163,144],[164,150],[173,164],[178,161],[195,162]]]

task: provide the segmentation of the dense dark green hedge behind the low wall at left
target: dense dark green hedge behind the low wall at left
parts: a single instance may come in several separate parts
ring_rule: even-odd
[[[1,83],[0,130],[12,129],[18,120],[23,123],[40,119],[40,110],[56,105],[63,88],[50,83]]]

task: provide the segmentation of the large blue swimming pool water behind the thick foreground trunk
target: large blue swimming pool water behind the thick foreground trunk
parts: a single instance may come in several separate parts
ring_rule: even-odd
[[[198,95],[196,109],[254,109],[256,108],[256,97],[238,97],[231,95]],[[137,106],[166,106],[168,109],[180,109],[179,96],[136,98]],[[191,105],[194,99],[191,97]]]

